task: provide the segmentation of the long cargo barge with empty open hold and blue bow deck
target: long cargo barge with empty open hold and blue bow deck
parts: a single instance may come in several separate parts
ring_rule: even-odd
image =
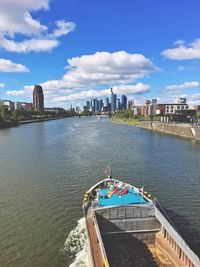
[[[190,249],[156,199],[124,181],[107,178],[83,200],[88,267],[199,267]]]

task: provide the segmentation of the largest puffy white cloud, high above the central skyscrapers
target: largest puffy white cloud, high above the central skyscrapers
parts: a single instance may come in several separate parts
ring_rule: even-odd
[[[68,89],[129,84],[158,71],[142,54],[129,54],[125,51],[96,52],[93,55],[74,57],[68,60],[68,64],[68,72],[59,82]]]

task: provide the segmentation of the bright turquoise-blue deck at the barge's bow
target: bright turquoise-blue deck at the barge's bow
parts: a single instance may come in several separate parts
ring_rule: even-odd
[[[116,206],[128,204],[145,204],[147,201],[138,194],[134,189],[128,189],[126,194],[121,194],[122,190],[112,194],[109,197],[109,188],[104,188],[98,191],[98,202],[100,206]]]

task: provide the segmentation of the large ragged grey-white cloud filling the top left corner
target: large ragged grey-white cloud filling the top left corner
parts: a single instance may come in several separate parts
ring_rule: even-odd
[[[56,21],[53,33],[32,13],[49,9],[50,0],[1,0],[0,47],[10,52],[51,51],[59,45],[58,37],[75,29],[73,22]],[[12,8],[11,8],[12,7]],[[20,34],[24,39],[17,40]]]

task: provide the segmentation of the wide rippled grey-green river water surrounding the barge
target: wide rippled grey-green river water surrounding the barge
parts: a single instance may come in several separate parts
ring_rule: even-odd
[[[0,266],[69,266],[69,246],[84,240],[83,193],[107,163],[156,196],[200,256],[200,144],[69,118],[0,130]]]

